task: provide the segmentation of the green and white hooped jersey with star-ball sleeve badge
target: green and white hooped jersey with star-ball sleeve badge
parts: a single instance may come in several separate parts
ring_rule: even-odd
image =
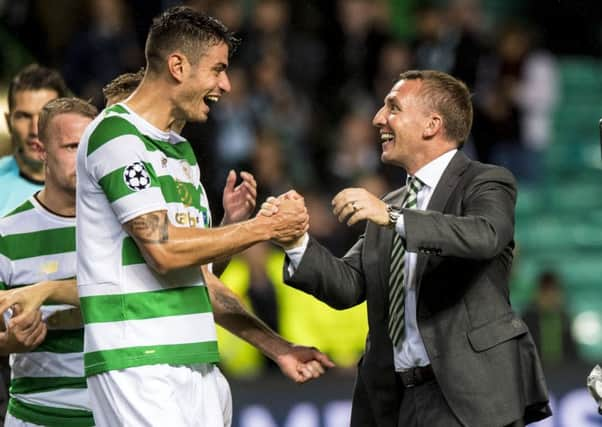
[[[77,281],[87,376],[219,360],[199,267],[158,274],[123,229],[159,210],[177,227],[210,226],[192,147],[116,104],[88,126],[77,155]]]

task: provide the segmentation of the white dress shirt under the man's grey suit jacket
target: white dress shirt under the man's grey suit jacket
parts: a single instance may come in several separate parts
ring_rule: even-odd
[[[458,150],[448,151],[416,172],[415,176],[424,183],[424,186],[417,195],[416,209],[426,210],[431,200],[431,196],[433,195],[433,190],[437,187],[443,172],[457,151]],[[408,176],[408,179],[409,178],[411,177]],[[406,230],[403,215],[400,215],[397,220],[395,230],[402,238],[405,238]],[[303,254],[307,249],[308,241],[308,236],[305,236],[301,246],[286,251],[290,260],[288,267],[290,275],[293,275],[295,269],[299,266]],[[406,252],[405,257],[405,335],[401,345],[393,348],[393,360],[395,363],[395,370],[397,371],[416,366],[426,366],[430,363],[416,322],[416,278],[414,277],[414,274],[416,270],[417,255],[414,252]]]

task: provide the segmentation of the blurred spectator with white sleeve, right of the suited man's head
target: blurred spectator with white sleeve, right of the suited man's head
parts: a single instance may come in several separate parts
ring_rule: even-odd
[[[557,97],[550,55],[535,49],[523,24],[500,30],[496,49],[480,64],[475,93],[475,148],[479,159],[510,169],[519,180],[540,173]]]

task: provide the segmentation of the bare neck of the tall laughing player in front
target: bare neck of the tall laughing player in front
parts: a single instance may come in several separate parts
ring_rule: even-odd
[[[172,108],[167,88],[162,88],[160,80],[143,80],[140,86],[125,103],[136,114],[157,129],[167,131],[173,123]]]

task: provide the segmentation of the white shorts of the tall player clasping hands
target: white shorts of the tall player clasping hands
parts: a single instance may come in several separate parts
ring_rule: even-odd
[[[211,364],[148,365],[88,378],[97,427],[229,427],[228,381]]]

